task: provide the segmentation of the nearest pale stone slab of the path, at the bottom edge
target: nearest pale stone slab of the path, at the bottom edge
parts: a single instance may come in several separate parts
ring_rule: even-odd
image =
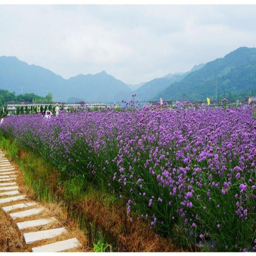
[[[32,248],[32,252],[61,252],[68,249],[76,248],[82,246],[82,244],[76,239],[71,238],[68,240],[46,244],[38,247]]]

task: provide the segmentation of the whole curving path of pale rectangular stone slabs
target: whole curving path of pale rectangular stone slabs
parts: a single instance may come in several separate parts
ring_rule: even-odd
[[[19,187],[15,181],[17,175],[14,175],[16,172],[13,170],[15,168],[11,166],[8,159],[5,158],[3,152],[0,150],[0,207],[13,221],[21,220],[16,222],[17,232],[22,232],[23,229],[27,228],[38,228],[38,231],[23,233],[26,245],[33,244],[36,241],[45,241],[45,244],[33,247],[31,251],[64,252],[82,246],[75,237],[55,243],[47,243],[47,239],[66,233],[67,230],[64,227],[40,230],[44,225],[52,222],[57,223],[57,220],[53,216],[51,218],[40,218],[40,213],[44,211],[44,207],[38,206],[36,202],[28,202],[29,199],[26,198],[26,195],[20,195]],[[28,216],[34,219],[22,221]]]

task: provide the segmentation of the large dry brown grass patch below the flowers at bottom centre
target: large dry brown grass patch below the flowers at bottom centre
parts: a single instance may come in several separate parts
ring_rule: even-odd
[[[155,236],[144,220],[130,222],[125,206],[112,204],[106,207],[92,196],[89,200],[84,198],[77,211],[110,232],[116,240],[118,252],[185,252],[167,239]]]

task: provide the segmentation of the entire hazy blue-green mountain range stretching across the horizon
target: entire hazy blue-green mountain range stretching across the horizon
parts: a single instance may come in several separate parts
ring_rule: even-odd
[[[125,84],[102,71],[69,79],[52,71],[28,65],[16,57],[0,57],[0,89],[19,94],[52,93],[53,100],[66,103],[121,102],[136,94],[139,101],[205,100],[223,95],[256,94],[256,49],[240,47],[223,58],[195,65],[185,73],[167,74],[138,85]],[[254,93],[255,92],[255,93]]]

